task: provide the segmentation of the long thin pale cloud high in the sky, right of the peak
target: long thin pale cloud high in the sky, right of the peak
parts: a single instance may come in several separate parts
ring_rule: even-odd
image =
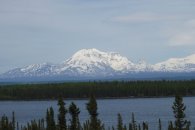
[[[126,16],[114,17],[113,20],[117,22],[153,22],[161,20],[175,20],[177,16],[161,15],[155,13],[139,12]]]

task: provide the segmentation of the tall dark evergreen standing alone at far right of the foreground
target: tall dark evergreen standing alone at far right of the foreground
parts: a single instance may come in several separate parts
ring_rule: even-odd
[[[175,101],[172,106],[175,117],[175,128],[182,130],[187,126],[187,120],[185,120],[186,106],[183,103],[183,98],[180,95],[175,96]]]

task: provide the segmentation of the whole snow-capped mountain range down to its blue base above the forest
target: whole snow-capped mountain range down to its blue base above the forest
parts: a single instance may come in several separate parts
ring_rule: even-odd
[[[115,52],[82,49],[61,64],[33,64],[0,75],[8,81],[66,81],[114,79],[194,79],[195,54],[149,64],[137,63]]]

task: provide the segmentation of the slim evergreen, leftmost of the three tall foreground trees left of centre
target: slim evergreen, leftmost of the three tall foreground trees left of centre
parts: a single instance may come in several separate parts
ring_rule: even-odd
[[[58,106],[59,106],[59,114],[58,114],[59,130],[67,130],[67,125],[66,125],[67,110],[65,108],[65,103],[62,97],[60,97],[58,100]]]

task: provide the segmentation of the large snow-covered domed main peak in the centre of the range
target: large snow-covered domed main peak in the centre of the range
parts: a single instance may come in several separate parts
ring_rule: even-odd
[[[119,53],[102,52],[97,49],[82,49],[60,65],[60,74],[106,76],[134,71],[136,65]]]

